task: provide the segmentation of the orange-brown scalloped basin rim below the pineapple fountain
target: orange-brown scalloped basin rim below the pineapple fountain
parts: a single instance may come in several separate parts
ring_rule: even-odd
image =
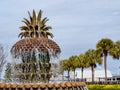
[[[61,83],[26,83],[8,84],[0,83],[0,90],[88,90],[84,82],[61,82]]]

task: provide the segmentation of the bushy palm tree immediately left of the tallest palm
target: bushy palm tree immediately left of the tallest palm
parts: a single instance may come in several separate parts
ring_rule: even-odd
[[[94,83],[94,68],[97,66],[97,63],[102,64],[102,58],[99,54],[96,53],[96,50],[94,49],[89,49],[85,54],[88,66],[91,67],[92,82]]]

